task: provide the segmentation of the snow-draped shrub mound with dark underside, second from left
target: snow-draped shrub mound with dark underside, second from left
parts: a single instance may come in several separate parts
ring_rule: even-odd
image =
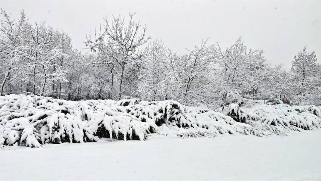
[[[135,115],[130,113],[132,111],[130,107],[118,104],[119,102],[115,105],[92,100],[90,102],[80,101],[76,105],[78,116],[82,121],[87,122],[86,134],[90,136],[87,136],[89,141],[97,139],[92,135],[111,140],[145,140],[146,134],[150,133],[149,130],[156,129],[156,126],[150,122],[139,121]]]

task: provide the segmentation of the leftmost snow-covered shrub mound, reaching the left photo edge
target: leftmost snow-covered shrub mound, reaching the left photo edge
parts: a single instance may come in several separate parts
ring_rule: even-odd
[[[0,107],[1,144],[40,147],[40,143],[83,142],[85,122],[64,102],[31,95],[1,97],[5,101]]]

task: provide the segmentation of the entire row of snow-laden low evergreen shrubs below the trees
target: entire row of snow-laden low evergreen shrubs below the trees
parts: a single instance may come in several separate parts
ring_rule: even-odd
[[[145,140],[150,133],[180,137],[256,136],[320,128],[320,107],[257,104],[229,106],[224,115],[176,101],[139,99],[65,101],[34,95],[0,98],[0,146]]]

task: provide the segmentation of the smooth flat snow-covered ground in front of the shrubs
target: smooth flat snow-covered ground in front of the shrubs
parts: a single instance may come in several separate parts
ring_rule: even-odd
[[[321,130],[14,146],[0,180],[321,180]]]

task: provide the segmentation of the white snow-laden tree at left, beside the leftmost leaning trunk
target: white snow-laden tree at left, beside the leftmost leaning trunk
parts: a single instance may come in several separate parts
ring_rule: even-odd
[[[26,45],[20,53],[27,59],[29,69],[32,71],[30,77],[25,77],[24,81],[33,83],[32,94],[46,95],[55,81],[66,82],[65,70],[58,65],[57,60],[68,58],[63,53],[61,44],[56,44],[57,33],[45,23],[28,24],[26,31]]]

